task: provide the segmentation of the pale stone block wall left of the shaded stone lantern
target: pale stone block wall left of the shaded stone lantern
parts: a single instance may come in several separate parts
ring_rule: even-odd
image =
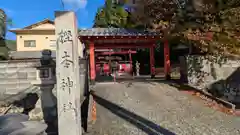
[[[32,81],[37,80],[36,61],[0,62],[0,101],[13,102],[30,91],[38,91]]]

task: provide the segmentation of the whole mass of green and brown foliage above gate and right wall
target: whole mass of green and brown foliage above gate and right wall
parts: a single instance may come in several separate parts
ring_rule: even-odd
[[[117,27],[161,30],[165,38],[179,38],[211,55],[240,55],[240,1],[191,0],[179,8],[174,0],[140,0],[135,12],[128,13],[122,4],[107,0],[100,8],[94,27]],[[186,1],[185,1],[186,2]],[[213,33],[213,38],[192,40],[185,35]]]

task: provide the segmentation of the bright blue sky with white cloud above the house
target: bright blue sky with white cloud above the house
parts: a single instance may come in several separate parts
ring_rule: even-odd
[[[63,0],[65,9],[76,11],[80,28],[92,27],[96,11],[105,0]],[[1,0],[0,8],[13,20],[11,28],[22,28],[45,18],[54,19],[54,11],[63,10],[61,0]],[[8,39],[15,34],[8,32]]]

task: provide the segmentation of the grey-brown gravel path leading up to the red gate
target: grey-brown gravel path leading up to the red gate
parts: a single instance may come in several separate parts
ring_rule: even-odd
[[[89,135],[240,135],[240,118],[164,83],[97,84]]]

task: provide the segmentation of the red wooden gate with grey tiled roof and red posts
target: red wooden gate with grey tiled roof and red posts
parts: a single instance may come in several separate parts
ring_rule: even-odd
[[[91,28],[81,29],[79,39],[89,49],[90,79],[96,79],[95,49],[114,48],[149,48],[151,76],[155,76],[154,47],[162,39],[162,33],[150,31],[129,30],[123,28]],[[170,55],[168,42],[164,42],[164,72],[167,79],[170,77]]]

